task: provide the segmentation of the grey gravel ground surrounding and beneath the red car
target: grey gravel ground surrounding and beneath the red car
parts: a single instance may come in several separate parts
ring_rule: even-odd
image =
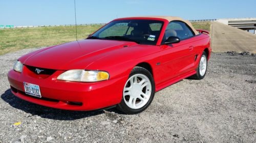
[[[0,142],[256,142],[256,56],[212,53],[203,80],[184,79],[157,92],[144,112],[123,115],[16,98],[7,72],[32,50],[0,56]]]

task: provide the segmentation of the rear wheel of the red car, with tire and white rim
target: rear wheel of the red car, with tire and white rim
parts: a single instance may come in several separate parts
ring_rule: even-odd
[[[207,70],[207,54],[205,51],[203,51],[200,61],[199,61],[199,65],[197,68],[197,73],[193,76],[191,76],[191,78],[194,79],[203,79],[205,74],[206,74],[206,70]]]

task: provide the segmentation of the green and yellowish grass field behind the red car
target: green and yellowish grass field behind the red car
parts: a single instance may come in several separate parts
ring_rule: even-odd
[[[196,29],[210,30],[210,22],[193,22]],[[102,25],[77,26],[78,40]],[[10,28],[0,30],[0,55],[20,49],[47,47],[76,40],[75,26]]]

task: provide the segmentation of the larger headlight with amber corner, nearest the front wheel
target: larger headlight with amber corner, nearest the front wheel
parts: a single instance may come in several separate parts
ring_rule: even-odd
[[[57,79],[67,81],[95,82],[108,80],[109,73],[104,71],[69,70],[60,74]]]

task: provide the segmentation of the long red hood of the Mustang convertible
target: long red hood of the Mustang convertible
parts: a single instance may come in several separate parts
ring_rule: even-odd
[[[106,56],[104,53],[124,48],[126,45],[138,44],[130,41],[86,39],[41,49],[25,55],[19,61],[28,66],[46,69],[85,69],[92,62]],[[82,65],[75,64],[81,60]]]

